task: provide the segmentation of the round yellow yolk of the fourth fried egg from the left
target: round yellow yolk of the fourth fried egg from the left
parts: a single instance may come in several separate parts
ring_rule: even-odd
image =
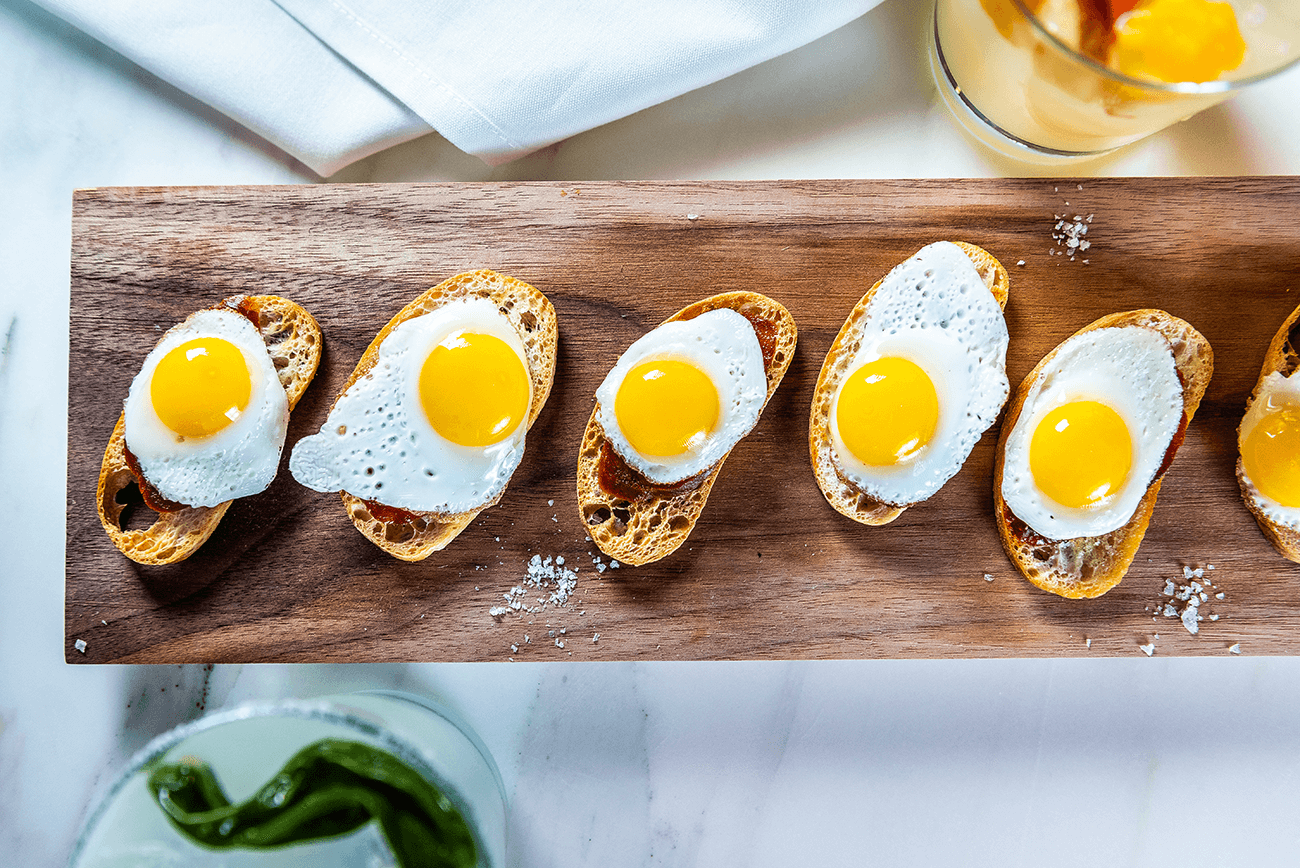
[[[863,464],[887,466],[911,459],[930,443],[937,425],[935,383],[906,359],[868,361],[840,390],[840,439]]]

